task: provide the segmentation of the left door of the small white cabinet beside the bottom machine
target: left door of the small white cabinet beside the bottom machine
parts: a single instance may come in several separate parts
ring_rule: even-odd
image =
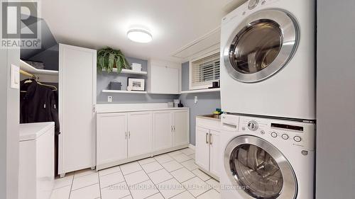
[[[209,130],[196,128],[196,164],[209,171]]]

